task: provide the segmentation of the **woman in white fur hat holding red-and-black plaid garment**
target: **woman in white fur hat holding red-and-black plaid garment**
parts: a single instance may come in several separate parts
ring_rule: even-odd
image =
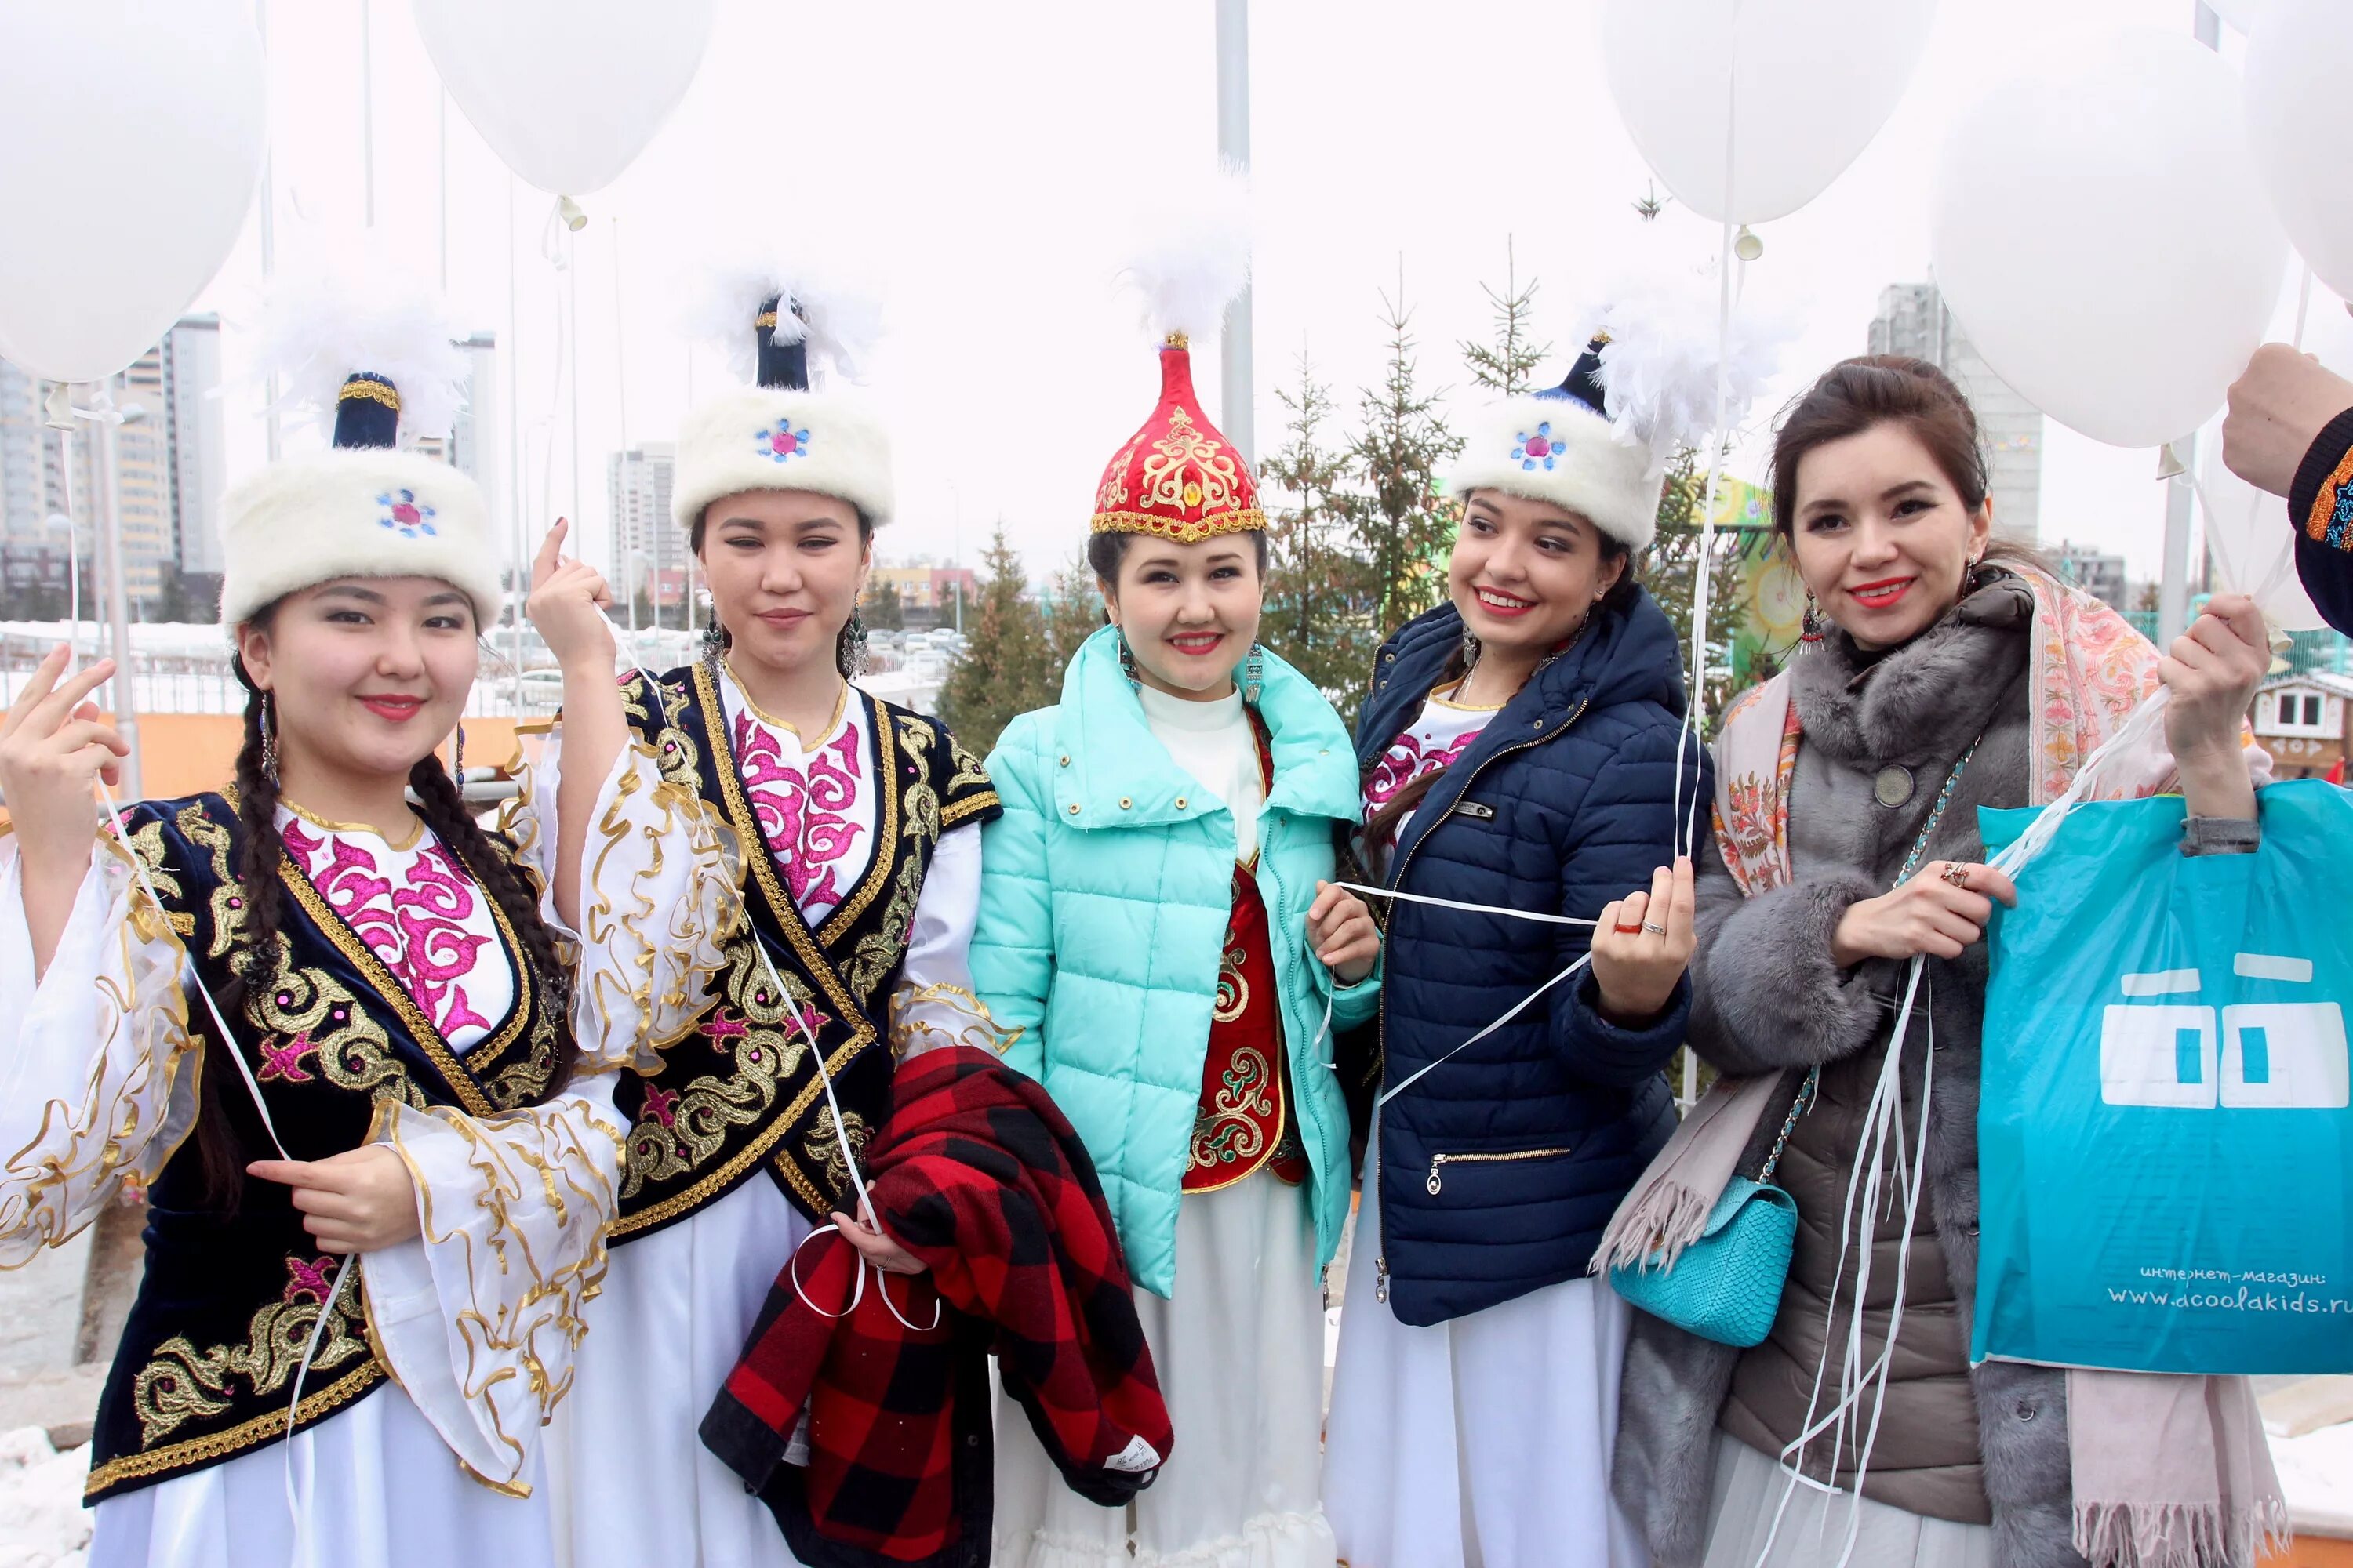
[[[638,983],[682,1027],[649,1018],[619,1088],[621,1218],[558,1441],[581,1568],[793,1561],[696,1427],[800,1241],[852,1208],[842,1140],[880,1126],[899,1056],[998,1044],[965,969],[995,790],[939,722],[849,684],[892,470],[856,395],[809,390],[840,306],[762,270],[725,310],[758,386],[687,416],[673,491],[711,585],[704,658],[628,677],[624,703],[666,785],[729,830],[739,919]]]

